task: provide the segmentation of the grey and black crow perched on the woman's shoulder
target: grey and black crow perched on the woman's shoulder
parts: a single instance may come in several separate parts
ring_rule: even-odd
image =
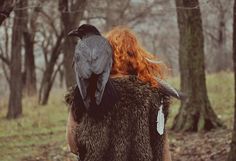
[[[85,109],[90,111],[112,106],[118,100],[118,95],[109,82],[113,50],[108,40],[90,24],[79,26],[68,36],[81,40],[75,48],[74,71]]]

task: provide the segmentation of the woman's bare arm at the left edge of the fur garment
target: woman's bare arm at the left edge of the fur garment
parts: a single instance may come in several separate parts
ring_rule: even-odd
[[[74,154],[78,154],[78,148],[76,146],[76,126],[78,124],[75,122],[71,111],[69,112],[68,115],[68,120],[67,120],[67,128],[66,128],[66,137],[67,137],[67,144],[69,147],[69,150],[74,153]]]

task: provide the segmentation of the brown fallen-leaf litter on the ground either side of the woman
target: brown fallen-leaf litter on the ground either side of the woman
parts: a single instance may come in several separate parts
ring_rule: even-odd
[[[172,136],[173,135],[173,136]],[[230,130],[209,133],[170,132],[170,150],[173,161],[223,161],[227,160]],[[40,155],[28,156],[21,161],[73,161],[75,156],[60,147],[60,142],[40,146]]]

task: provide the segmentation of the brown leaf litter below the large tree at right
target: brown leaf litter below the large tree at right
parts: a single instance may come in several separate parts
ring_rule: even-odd
[[[170,135],[173,161],[227,160],[231,130],[220,129],[199,134],[170,132]]]

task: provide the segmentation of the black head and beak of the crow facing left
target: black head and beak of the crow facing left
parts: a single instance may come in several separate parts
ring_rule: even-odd
[[[101,35],[101,33],[98,31],[96,27],[89,24],[83,24],[68,33],[68,36],[77,36],[80,39],[87,37],[89,35]]]

